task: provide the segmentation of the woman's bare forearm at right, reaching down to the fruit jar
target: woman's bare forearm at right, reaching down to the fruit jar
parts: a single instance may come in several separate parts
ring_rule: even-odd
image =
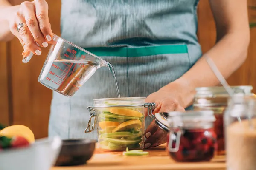
[[[226,34],[207,54],[204,54],[215,62],[215,65],[225,78],[236,71],[246,59],[250,41],[249,34],[249,31],[245,31],[243,34]],[[195,88],[215,86],[219,84],[219,81],[203,56],[174,83],[182,85],[184,88],[180,93],[183,96],[182,105],[187,107],[192,104]]]

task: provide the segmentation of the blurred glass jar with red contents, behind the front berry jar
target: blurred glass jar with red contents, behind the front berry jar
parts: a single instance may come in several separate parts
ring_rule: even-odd
[[[236,96],[252,96],[252,86],[231,86]],[[196,88],[194,110],[212,110],[216,117],[214,130],[217,134],[218,155],[225,154],[223,113],[227,107],[229,95],[223,87]]]

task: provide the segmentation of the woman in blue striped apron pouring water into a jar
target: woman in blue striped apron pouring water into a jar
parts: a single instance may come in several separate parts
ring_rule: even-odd
[[[116,71],[122,97],[147,96],[146,102],[157,105],[154,113],[184,111],[191,105],[196,87],[219,83],[198,43],[198,1],[62,0],[61,36],[95,54],[103,54],[100,57],[111,62]],[[217,42],[207,55],[227,78],[247,56],[247,0],[209,2]],[[29,51],[40,55],[41,48],[47,47],[52,39],[47,11],[45,0],[18,6],[1,0],[1,39],[9,40],[13,34],[23,45],[23,56]],[[20,23],[27,26],[18,31]],[[113,55],[108,48],[126,52]],[[84,112],[93,99],[116,96],[113,78],[103,68],[72,98],[53,92],[49,136],[96,139],[96,132],[83,132],[89,119]],[[147,119],[146,125],[150,122]],[[145,137],[145,148],[166,142],[166,136],[154,123],[148,126]]]

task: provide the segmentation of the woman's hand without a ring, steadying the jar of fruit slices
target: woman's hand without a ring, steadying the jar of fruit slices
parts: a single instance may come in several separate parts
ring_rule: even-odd
[[[191,95],[187,90],[186,85],[172,82],[160,88],[159,91],[150,94],[146,98],[146,102],[154,102],[156,104],[153,114],[171,111],[185,112],[184,107],[192,101],[192,99],[189,99]],[[145,137],[147,138],[144,144],[145,148],[155,147],[167,142],[167,133],[161,130],[154,122],[152,121],[147,130],[145,130]]]

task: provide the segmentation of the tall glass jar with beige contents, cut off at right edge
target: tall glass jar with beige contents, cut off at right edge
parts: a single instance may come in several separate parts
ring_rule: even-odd
[[[230,99],[224,114],[227,170],[256,169],[256,99]]]

